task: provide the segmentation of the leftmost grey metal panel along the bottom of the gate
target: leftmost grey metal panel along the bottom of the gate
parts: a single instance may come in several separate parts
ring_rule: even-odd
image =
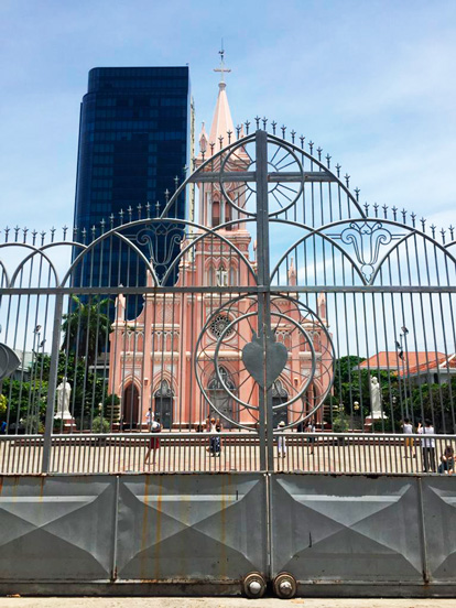
[[[0,481],[1,583],[111,578],[115,477]]]

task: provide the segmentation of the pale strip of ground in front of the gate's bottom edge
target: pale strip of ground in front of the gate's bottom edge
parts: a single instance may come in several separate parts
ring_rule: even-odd
[[[0,598],[0,608],[455,608],[456,599]]]

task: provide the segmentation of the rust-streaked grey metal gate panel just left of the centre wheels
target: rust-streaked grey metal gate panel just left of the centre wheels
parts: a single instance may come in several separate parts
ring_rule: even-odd
[[[119,580],[239,580],[265,572],[261,475],[120,479]]]

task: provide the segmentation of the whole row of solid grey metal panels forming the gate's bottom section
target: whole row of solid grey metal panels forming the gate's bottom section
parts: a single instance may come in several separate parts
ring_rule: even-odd
[[[307,596],[454,594],[452,476],[1,481],[4,594],[173,594],[177,584],[185,593],[236,594],[252,572],[267,580],[287,572]]]

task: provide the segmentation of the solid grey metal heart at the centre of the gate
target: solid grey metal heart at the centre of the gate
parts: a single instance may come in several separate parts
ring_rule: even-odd
[[[242,348],[242,362],[252,378],[264,388],[264,354],[263,340],[256,332],[252,341]],[[265,334],[265,388],[269,389],[282,373],[289,352],[284,344],[275,340],[271,329]]]

